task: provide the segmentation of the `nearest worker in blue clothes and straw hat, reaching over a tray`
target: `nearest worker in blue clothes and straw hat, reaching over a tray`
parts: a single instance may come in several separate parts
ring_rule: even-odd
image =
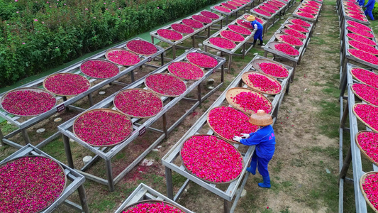
[[[265,113],[264,110],[257,110],[257,113],[250,116],[250,123],[260,126],[260,129],[253,133],[241,133],[240,136],[234,136],[233,140],[243,143],[247,146],[255,145],[255,153],[252,155],[250,167],[247,168],[248,172],[252,175],[256,174],[256,167],[262,175],[262,180],[258,185],[264,188],[270,188],[270,178],[268,172],[268,163],[272,159],[276,144],[274,136],[272,116]],[[244,139],[243,139],[244,138]]]

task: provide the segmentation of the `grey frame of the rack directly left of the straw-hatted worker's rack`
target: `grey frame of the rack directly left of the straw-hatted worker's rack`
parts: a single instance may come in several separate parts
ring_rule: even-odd
[[[153,75],[155,73],[167,72],[167,67],[172,62],[185,61],[185,58],[186,58],[187,54],[189,54],[189,53],[204,53],[204,52],[201,51],[201,50],[197,50],[197,49],[193,48],[193,49],[187,51],[187,53],[180,55],[177,59],[167,63],[167,65],[158,68],[154,72],[151,72],[149,75]],[[191,83],[189,84],[187,81],[184,81],[187,84],[187,91],[184,92],[183,94],[181,94],[179,97],[174,97],[174,98],[162,97],[163,102],[165,102],[165,101],[169,101],[169,102],[167,104],[165,104],[163,109],[157,115],[155,115],[155,116],[153,116],[149,119],[136,119],[136,118],[131,119],[131,121],[133,122],[133,132],[130,134],[129,138],[126,139],[126,141],[124,141],[123,143],[120,143],[116,146],[99,148],[99,147],[90,146],[88,143],[85,143],[84,141],[82,141],[80,138],[75,136],[74,133],[72,132],[72,126],[74,124],[74,120],[78,116],[80,116],[81,114],[75,116],[74,118],[70,119],[69,121],[66,121],[64,124],[61,124],[60,126],[58,126],[60,133],[62,133],[62,135],[63,135],[63,142],[65,143],[65,152],[66,152],[66,156],[67,156],[68,165],[71,168],[74,168],[74,163],[73,163],[73,160],[72,160],[72,151],[71,151],[70,142],[69,142],[69,138],[71,138],[72,140],[76,141],[76,143],[79,143],[79,145],[84,146],[84,148],[87,148],[89,151],[91,151],[92,153],[95,154],[95,157],[91,161],[89,161],[89,163],[84,165],[84,167],[82,169],[80,169],[78,171],[80,173],[82,173],[89,180],[93,180],[95,182],[99,182],[101,184],[108,185],[109,190],[112,192],[114,190],[115,184],[117,182],[122,180],[122,178],[130,170],[132,170],[135,167],[135,165],[138,165],[140,160],[143,160],[143,158],[148,153],[150,153],[150,151],[152,151],[152,149],[155,148],[155,146],[157,146],[157,144],[160,143],[160,141],[167,138],[168,134],[171,131],[173,131],[174,128],[177,125],[179,125],[179,123],[181,123],[189,114],[191,114],[191,112],[194,111],[194,109],[196,109],[196,107],[201,105],[201,102],[204,101],[204,99],[206,99],[211,94],[213,94],[213,92],[216,92],[216,90],[219,89],[223,85],[223,74],[224,74],[223,64],[226,61],[226,59],[218,57],[216,55],[211,55],[209,53],[204,53],[204,54],[210,55],[211,57],[215,58],[218,61],[218,65],[216,65],[216,67],[214,67],[214,68],[206,70],[204,77],[201,77],[201,79],[199,79],[195,82],[191,81]],[[218,84],[214,89],[211,89],[207,94],[202,96],[201,95],[201,82],[206,80],[207,77],[210,77],[218,69],[221,69],[221,83]],[[149,75],[146,75],[145,77],[148,77]],[[123,89],[132,89],[132,88],[143,87],[143,85],[144,85],[143,82],[145,80],[145,77],[141,78],[140,80],[133,82],[133,84],[130,84],[127,87],[124,87]],[[189,92],[191,92],[192,90],[194,90],[196,88],[197,88],[197,99],[189,99],[189,98],[185,97],[187,94],[189,94]],[[123,90],[123,89],[121,89],[121,90]],[[114,99],[115,96],[116,96],[116,93],[112,94],[111,96],[107,97],[103,101],[101,101],[98,104],[94,105],[93,107],[87,109],[87,111],[89,111],[91,109],[113,107],[113,99]],[[167,126],[166,112],[169,109],[171,109],[172,107],[174,107],[174,105],[177,104],[177,102],[179,102],[181,100],[187,100],[187,101],[193,103],[193,105],[191,106],[191,108],[189,110],[187,110],[184,113],[184,115],[182,115],[179,119],[177,119],[177,121],[175,121],[175,123],[172,124],[172,126]],[[150,127],[158,119],[160,119],[160,117],[162,117],[163,129],[162,130],[153,129],[152,127]],[[140,121],[143,121],[143,123],[141,124]],[[138,138],[138,136],[140,135],[140,131],[146,131],[146,130],[152,130],[152,131],[155,131],[157,133],[160,133],[160,137],[157,138],[157,140],[154,141],[152,143],[152,145],[150,145],[142,154],[140,154],[133,161],[133,163],[130,163],[130,165],[128,165],[127,168],[123,169],[120,174],[118,174],[115,178],[113,178],[113,173],[112,173],[112,168],[111,168],[111,158],[113,158],[117,153],[122,151],[123,148],[126,148],[126,146],[128,146],[128,144],[131,143],[135,138]],[[100,178],[96,175],[91,175],[89,173],[85,173],[85,170],[87,170],[93,163],[95,163],[97,160],[99,160],[99,158],[103,158],[105,160],[107,179]]]

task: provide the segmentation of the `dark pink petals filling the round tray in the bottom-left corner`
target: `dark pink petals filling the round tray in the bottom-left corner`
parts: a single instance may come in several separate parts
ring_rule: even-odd
[[[22,157],[0,167],[0,212],[40,212],[65,189],[62,167],[50,158]]]

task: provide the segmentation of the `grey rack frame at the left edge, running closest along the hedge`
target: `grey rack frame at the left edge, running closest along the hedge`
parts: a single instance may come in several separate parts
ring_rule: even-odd
[[[133,38],[131,40],[143,40],[143,39],[142,38]],[[119,45],[116,45],[113,48],[125,48],[127,50],[126,43],[128,43],[129,41],[130,40],[123,42]],[[146,40],[144,40],[144,41],[146,41]],[[54,108],[45,112],[44,114],[40,114],[38,116],[33,116],[33,117],[28,117],[28,119],[23,120],[23,121],[18,121],[18,119],[21,118],[20,116],[13,116],[12,114],[6,113],[3,109],[0,109],[0,116],[2,118],[6,119],[7,121],[11,122],[11,124],[17,126],[17,128],[18,128],[16,131],[13,131],[6,136],[3,136],[3,134],[1,133],[1,129],[0,129],[0,142],[3,145],[7,144],[9,146],[13,146],[14,148],[21,148],[22,146],[20,144],[13,142],[13,141],[10,141],[9,138],[11,138],[11,137],[15,136],[17,133],[21,132],[25,143],[26,144],[30,143],[30,139],[29,139],[29,136],[28,136],[26,129],[28,129],[30,126],[38,124],[40,121],[43,121],[44,119],[47,119],[48,117],[52,116],[52,114],[57,113],[58,107],[63,107],[63,109],[65,109],[65,107],[68,107],[70,109],[74,109],[74,110],[77,110],[77,111],[84,111],[85,109],[82,109],[82,108],[79,108],[79,107],[74,107],[74,106],[72,106],[72,104],[74,104],[75,102],[78,102],[80,99],[83,99],[84,97],[88,97],[89,98],[89,104],[92,106],[93,105],[93,103],[91,101],[92,92],[95,92],[97,89],[100,89],[101,87],[104,87],[107,84],[110,84],[111,82],[116,83],[116,80],[118,80],[118,78],[120,78],[120,77],[123,77],[124,75],[130,74],[131,81],[134,82],[133,70],[135,70],[136,68],[138,68],[142,65],[148,65],[147,63],[150,62],[153,58],[156,58],[158,55],[161,55],[161,57],[163,57],[163,53],[164,53],[165,50],[163,48],[160,48],[157,45],[155,45],[155,47],[157,48],[157,53],[150,55],[150,56],[140,55],[140,62],[138,62],[138,64],[130,66],[130,67],[126,67],[125,70],[119,72],[118,75],[116,75],[114,77],[111,77],[111,78],[106,79],[106,80],[102,80],[101,82],[97,82],[92,87],[90,87],[86,92],[83,92],[82,94],[78,94],[77,96],[74,96],[70,99],[67,99],[66,97],[57,96],[56,99],[57,99],[58,104]],[[111,48],[109,48],[109,49],[111,49]],[[101,53],[97,53],[95,55],[92,55],[91,57],[86,58],[85,60],[81,60],[79,62],[76,62],[73,65],[70,65],[69,67],[66,67],[65,69],[59,70],[59,71],[57,71],[53,74],[56,74],[56,73],[76,73],[76,74],[82,73],[80,71],[79,67],[80,67],[80,65],[82,65],[82,63],[84,61],[90,60],[90,59],[99,59],[99,58],[104,59],[105,53],[106,53],[106,50],[101,51]],[[123,66],[120,65],[118,67],[123,67]],[[92,84],[93,84],[94,81],[97,80],[97,79],[91,78],[91,77],[87,77],[87,78],[89,79],[89,82],[91,82]],[[45,77],[42,77],[42,78],[35,80],[33,82],[30,82],[28,84],[24,84],[21,87],[42,87],[43,80],[45,80]],[[119,82],[119,83],[121,83],[121,82]],[[6,94],[6,92],[0,94],[0,99],[1,99],[1,97],[4,96],[4,94]],[[47,143],[52,141],[54,138],[57,138],[57,136],[60,136],[59,132],[54,133],[52,136],[50,136],[50,137],[46,138],[44,141],[38,143],[38,145],[36,145],[36,147],[41,148],[41,147],[45,146]]]

